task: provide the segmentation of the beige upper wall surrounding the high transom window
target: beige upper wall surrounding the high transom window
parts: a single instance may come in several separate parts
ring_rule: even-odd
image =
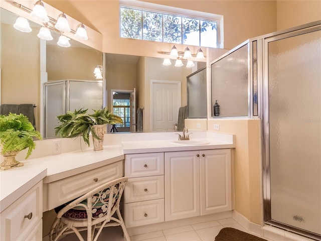
[[[119,37],[118,1],[45,1],[85,25],[102,33],[103,52],[163,57],[172,44],[136,41]],[[275,1],[145,1],[224,16],[224,48],[231,49],[243,41],[276,31]],[[133,45],[135,46],[133,48]],[[177,45],[179,51],[183,45]],[[190,46],[193,53],[197,48]],[[206,49],[205,49],[206,52]]]

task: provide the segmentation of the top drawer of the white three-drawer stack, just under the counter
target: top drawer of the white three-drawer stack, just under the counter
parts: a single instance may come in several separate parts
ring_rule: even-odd
[[[125,155],[126,177],[164,175],[164,153]]]

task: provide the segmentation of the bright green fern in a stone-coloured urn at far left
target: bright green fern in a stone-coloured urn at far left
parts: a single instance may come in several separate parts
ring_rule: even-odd
[[[0,115],[0,144],[4,161],[0,164],[1,170],[21,167],[24,164],[16,160],[16,155],[28,149],[27,159],[36,148],[34,138],[42,140],[38,131],[23,114],[9,113]]]

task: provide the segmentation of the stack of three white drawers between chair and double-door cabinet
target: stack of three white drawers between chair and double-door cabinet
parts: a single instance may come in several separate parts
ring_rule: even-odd
[[[164,153],[125,155],[126,227],[164,222]]]

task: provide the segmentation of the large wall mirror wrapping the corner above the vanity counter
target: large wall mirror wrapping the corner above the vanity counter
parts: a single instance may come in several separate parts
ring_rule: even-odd
[[[175,67],[172,61],[171,66],[164,66],[161,58],[103,54],[74,40],[70,40],[70,48],[63,48],[56,44],[59,37],[56,32],[52,31],[54,40],[40,40],[37,34],[41,26],[32,21],[29,21],[33,29],[31,33],[14,29],[17,17],[1,9],[1,104],[35,104],[38,130],[42,130],[41,123],[49,125],[48,122],[53,121],[47,134],[44,133],[46,128],[43,128],[45,138],[54,137],[53,129],[58,124],[55,116],[59,111],[77,108],[71,101],[86,100],[84,96],[96,89],[87,84],[96,82],[101,93],[103,79],[96,79],[93,73],[97,65],[102,66],[106,81],[106,87],[102,90],[105,91],[106,103],[98,101],[95,108],[107,105],[124,117],[125,125],[116,127],[119,133],[174,131],[179,108],[188,102],[186,77],[206,65],[205,62],[195,62],[193,68]],[[42,52],[44,49],[45,55]],[[42,66],[44,58],[45,68]],[[43,75],[48,80],[46,83],[41,82]],[[45,98],[47,89],[44,85],[48,88],[54,86],[54,94],[48,97],[47,93]],[[70,88],[74,85],[73,91]],[[78,88],[87,92],[79,93]],[[71,97],[72,92],[76,92],[78,97]],[[45,107],[47,112],[42,111]],[[78,107],[86,106],[80,104]],[[109,128],[108,132],[111,131]],[[113,132],[117,131],[113,129]]]

